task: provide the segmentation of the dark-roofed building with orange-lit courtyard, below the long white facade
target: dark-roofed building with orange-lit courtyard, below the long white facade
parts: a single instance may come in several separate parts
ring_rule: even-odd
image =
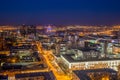
[[[117,72],[109,68],[76,70],[72,77],[72,80],[117,80]]]

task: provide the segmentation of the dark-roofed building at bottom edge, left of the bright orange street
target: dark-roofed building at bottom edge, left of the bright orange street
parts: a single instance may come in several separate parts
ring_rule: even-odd
[[[0,75],[0,80],[56,80],[56,78],[53,72],[32,72],[15,74],[14,77]]]

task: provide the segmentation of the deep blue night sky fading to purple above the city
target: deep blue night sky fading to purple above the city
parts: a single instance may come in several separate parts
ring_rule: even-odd
[[[0,25],[116,25],[120,0],[0,0]]]

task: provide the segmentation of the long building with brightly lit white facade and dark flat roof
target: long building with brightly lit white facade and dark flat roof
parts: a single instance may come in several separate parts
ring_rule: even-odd
[[[120,65],[120,58],[74,58],[74,54],[61,55],[63,66],[68,70],[85,70],[85,69],[99,69],[111,68],[117,70]]]

